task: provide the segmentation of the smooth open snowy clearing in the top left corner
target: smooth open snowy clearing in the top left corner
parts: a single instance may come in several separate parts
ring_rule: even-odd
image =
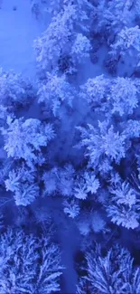
[[[36,19],[31,6],[31,0],[0,0],[0,67],[33,78],[33,40],[46,29],[50,15],[41,7],[42,17]]]

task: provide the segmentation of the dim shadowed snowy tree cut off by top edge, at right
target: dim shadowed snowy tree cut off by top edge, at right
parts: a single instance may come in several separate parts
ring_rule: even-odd
[[[124,26],[130,26],[135,19],[131,8],[134,0],[98,1],[94,7],[93,32],[100,33],[107,43],[115,39]]]

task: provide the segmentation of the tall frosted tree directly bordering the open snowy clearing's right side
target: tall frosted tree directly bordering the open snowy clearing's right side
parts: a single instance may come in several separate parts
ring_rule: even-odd
[[[49,65],[55,67],[64,53],[69,55],[77,15],[75,5],[65,6],[64,11],[52,17],[42,37],[34,41],[36,59],[43,70]]]

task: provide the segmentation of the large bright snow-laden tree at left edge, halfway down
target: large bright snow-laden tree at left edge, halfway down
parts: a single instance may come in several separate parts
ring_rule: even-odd
[[[51,124],[43,125],[39,119],[7,118],[7,128],[1,128],[5,138],[7,156],[23,158],[29,166],[37,162],[41,147],[54,138]]]

